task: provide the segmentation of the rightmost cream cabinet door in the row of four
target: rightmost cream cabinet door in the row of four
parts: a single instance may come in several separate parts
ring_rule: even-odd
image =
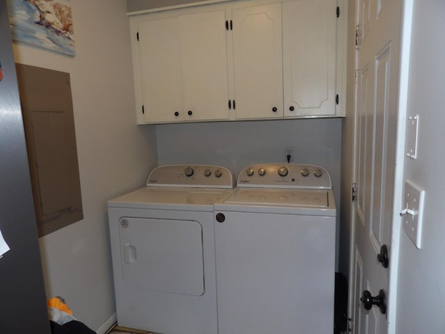
[[[284,116],[335,115],[337,3],[283,3]]]

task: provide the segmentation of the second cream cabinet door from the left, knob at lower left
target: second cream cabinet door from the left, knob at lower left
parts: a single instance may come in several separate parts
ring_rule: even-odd
[[[185,120],[229,117],[225,10],[179,17]]]

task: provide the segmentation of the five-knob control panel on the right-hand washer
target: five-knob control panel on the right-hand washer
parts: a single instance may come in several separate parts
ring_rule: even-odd
[[[254,164],[238,176],[240,187],[332,189],[329,172],[311,164]]]

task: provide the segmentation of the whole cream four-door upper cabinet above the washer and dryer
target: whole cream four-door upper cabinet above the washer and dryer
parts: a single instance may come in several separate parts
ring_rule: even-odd
[[[342,116],[337,2],[346,12],[347,0],[245,0],[132,16],[138,124]]]

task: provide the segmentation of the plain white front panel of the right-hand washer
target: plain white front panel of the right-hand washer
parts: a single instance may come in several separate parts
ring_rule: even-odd
[[[218,333],[332,333],[335,218],[222,213]]]

